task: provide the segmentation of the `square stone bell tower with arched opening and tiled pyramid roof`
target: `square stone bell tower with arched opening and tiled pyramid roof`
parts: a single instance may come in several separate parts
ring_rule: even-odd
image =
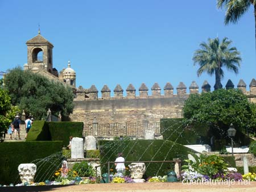
[[[52,49],[53,45],[41,34],[26,42],[27,44],[27,65],[25,69],[46,70],[53,73],[52,70]]]

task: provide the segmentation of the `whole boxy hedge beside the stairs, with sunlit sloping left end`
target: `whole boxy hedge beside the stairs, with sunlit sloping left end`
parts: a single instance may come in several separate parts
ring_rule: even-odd
[[[33,122],[27,141],[63,141],[69,144],[69,136],[82,137],[83,122],[46,122],[36,120]]]

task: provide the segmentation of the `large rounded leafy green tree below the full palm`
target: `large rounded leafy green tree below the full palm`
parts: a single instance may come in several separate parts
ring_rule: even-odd
[[[231,123],[242,132],[246,132],[246,126],[255,126],[255,106],[237,89],[191,94],[183,111],[188,123],[208,123],[211,128],[223,132]]]

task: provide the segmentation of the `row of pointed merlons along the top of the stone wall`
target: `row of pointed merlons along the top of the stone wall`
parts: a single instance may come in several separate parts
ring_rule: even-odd
[[[209,92],[210,85],[207,81],[204,81],[203,85],[201,86],[201,92]],[[234,84],[231,80],[225,85],[226,89],[233,89]],[[246,84],[243,80],[238,82],[237,88],[242,91],[245,95],[256,95],[256,80],[253,78],[249,85],[249,91],[246,90]],[[92,85],[89,89],[84,89],[82,86],[79,86],[76,91],[76,98],[74,101],[86,101],[86,100],[115,100],[115,99],[151,99],[151,98],[186,98],[189,94],[199,93],[199,86],[196,84],[195,81],[192,81],[191,85],[189,86],[189,92],[187,93],[187,86],[180,82],[179,85],[176,87],[177,94],[174,94],[174,87],[171,85],[170,82],[164,86],[164,95],[161,95],[161,87],[157,82],[151,87],[151,95],[148,95],[148,87],[142,83],[141,87],[139,87],[139,95],[136,95],[136,89],[133,84],[129,84],[126,88],[126,96],[123,96],[123,89],[121,85],[115,86],[114,97],[111,97],[111,90],[109,89],[108,85],[104,85],[101,89],[101,98],[98,97],[98,90],[95,85]]]

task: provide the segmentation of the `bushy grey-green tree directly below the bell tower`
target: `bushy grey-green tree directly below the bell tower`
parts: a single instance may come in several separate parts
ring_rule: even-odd
[[[61,111],[64,118],[73,111],[71,87],[50,81],[30,70],[10,70],[5,76],[5,88],[10,93],[11,103],[36,119],[46,118],[48,108],[55,115]]]

